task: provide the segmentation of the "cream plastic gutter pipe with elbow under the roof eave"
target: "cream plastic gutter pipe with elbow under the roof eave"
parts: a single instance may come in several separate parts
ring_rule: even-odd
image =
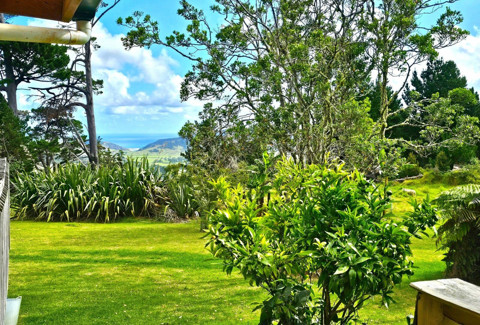
[[[72,30],[0,23],[0,40],[84,45],[90,40],[92,22],[80,20],[76,25],[77,29]]]

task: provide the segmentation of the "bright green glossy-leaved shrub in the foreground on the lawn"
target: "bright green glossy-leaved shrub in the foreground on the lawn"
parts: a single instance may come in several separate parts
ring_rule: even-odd
[[[212,185],[220,209],[209,216],[207,249],[230,274],[238,268],[269,297],[260,324],[349,324],[374,296],[384,304],[412,271],[410,238],[437,219],[428,200],[404,216],[387,213],[383,192],[342,165],[276,164],[267,205],[255,190]],[[401,220],[395,222],[393,220]]]

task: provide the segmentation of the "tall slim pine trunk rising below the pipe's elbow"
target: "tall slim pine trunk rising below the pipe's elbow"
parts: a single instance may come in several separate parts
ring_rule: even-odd
[[[98,147],[96,143],[96,125],[95,113],[93,104],[93,81],[92,81],[92,49],[90,48],[90,41],[84,45],[85,49],[85,79],[86,79],[86,107],[85,115],[87,117],[88,129],[88,145],[90,147],[90,154],[88,160],[92,166],[98,165]]]

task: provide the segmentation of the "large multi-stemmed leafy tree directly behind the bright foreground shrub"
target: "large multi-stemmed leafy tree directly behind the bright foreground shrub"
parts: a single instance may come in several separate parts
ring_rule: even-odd
[[[215,100],[215,106],[206,104],[199,120],[187,122],[180,132],[189,144],[189,162],[204,169],[216,164],[229,168],[239,161],[253,164],[264,150],[319,162],[327,151],[344,155],[352,147],[350,139],[362,139],[364,132],[358,130],[371,127],[366,104],[354,101],[357,86],[366,88],[370,71],[364,46],[354,40],[353,20],[342,21],[331,7],[319,8],[312,1],[259,2],[256,9],[241,1],[220,1],[211,7],[212,14],[225,15],[229,23],[217,28],[203,10],[187,1],[180,4],[188,35],[175,31],[164,41],[158,23],[142,12],[118,23],[132,28],[122,38],[127,48],[161,44],[187,53],[199,44],[199,51],[187,55],[192,69],[181,97]],[[271,19],[272,13],[279,22],[275,27],[257,23]],[[344,37],[336,39],[332,26],[320,27],[329,24],[324,17],[330,14],[335,16],[330,24],[338,22],[348,31]],[[244,17],[259,30],[242,28]],[[252,42],[258,35],[265,36]],[[335,46],[342,51],[330,51]],[[246,55],[238,57],[240,52]]]

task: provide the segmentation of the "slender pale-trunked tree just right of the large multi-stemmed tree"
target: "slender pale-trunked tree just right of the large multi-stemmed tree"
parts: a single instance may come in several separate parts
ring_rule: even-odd
[[[367,5],[367,12],[371,17],[365,18],[361,22],[368,30],[366,33],[369,35],[368,49],[373,53],[372,65],[378,71],[377,78],[381,96],[377,128],[380,136],[386,137],[397,128],[402,130],[407,126],[409,132],[403,135],[402,132],[397,132],[396,135],[399,137],[396,139],[402,146],[417,152],[431,150],[432,147],[441,144],[439,141],[441,128],[439,127],[443,125],[443,121],[436,119],[435,112],[431,109],[423,110],[423,103],[418,101],[420,99],[417,95],[418,92],[408,93],[405,97],[407,105],[391,111],[390,105],[396,100],[401,89],[389,96],[388,81],[391,78],[392,69],[406,72],[406,78],[408,78],[409,69],[407,67],[425,60],[433,60],[438,56],[437,49],[453,45],[467,37],[468,31],[457,27],[457,24],[463,21],[461,13],[448,7],[436,21],[437,25],[422,26],[423,19],[421,17],[440,9],[443,3],[429,1],[426,5],[423,1],[384,0],[376,2],[376,5]],[[422,32],[419,33],[419,30]],[[406,62],[409,62],[408,65],[405,64]],[[431,98],[434,99],[433,96],[428,97],[428,99]],[[430,108],[435,108],[430,106]],[[435,110],[442,106],[444,105],[439,105]],[[447,113],[449,110],[443,109],[442,111]],[[417,117],[422,115],[429,117],[425,120]],[[450,117],[454,116],[453,114],[449,115]],[[399,123],[389,125],[389,119],[391,122],[392,117],[398,118]],[[436,131],[436,134],[425,134],[432,133],[432,131]],[[415,141],[418,139],[417,132],[420,132],[421,141]],[[458,138],[468,139],[461,134],[458,135]]]

